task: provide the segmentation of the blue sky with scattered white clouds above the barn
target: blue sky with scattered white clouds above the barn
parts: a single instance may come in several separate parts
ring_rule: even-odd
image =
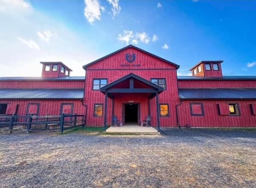
[[[0,76],[40,76],[40,61],[81,76],[128,44],[180,65],[179,75],[201,60],[256,75],[255,17],[253,0],[0,0]]]

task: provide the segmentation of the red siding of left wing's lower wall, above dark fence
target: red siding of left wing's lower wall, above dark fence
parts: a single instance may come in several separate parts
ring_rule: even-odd
[[[16,108],[16,106],[18,105],[17,115],[21,116],[26,115],[29,103],[39,103],[40,107],[38,115],[42,116],[45,116],[47,114],[59,115],[61,112],[61,103],[73,103],[73,114],[84,114],[85,111],[84,106],[82,105],[80,100],[0,100],[0,103],[8,103],[7,108],[9,108],[9,105],[12,105],[12,108]],[[35,111],[34,109],[31,109],[29,112],[34,114]]]

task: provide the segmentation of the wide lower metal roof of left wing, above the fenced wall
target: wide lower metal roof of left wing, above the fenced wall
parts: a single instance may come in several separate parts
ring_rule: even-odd
[[[0,89],[0,99],[82,99],[83,89]]]

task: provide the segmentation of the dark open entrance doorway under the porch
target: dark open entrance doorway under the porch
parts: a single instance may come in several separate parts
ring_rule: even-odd
[[[124,104],[124,120],[126,125],[139,124],[139,104]]]

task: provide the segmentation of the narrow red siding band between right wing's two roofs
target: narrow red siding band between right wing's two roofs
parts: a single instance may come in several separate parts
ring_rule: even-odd
[[[178,80],[179,88],[256,88],[256,80]]]

